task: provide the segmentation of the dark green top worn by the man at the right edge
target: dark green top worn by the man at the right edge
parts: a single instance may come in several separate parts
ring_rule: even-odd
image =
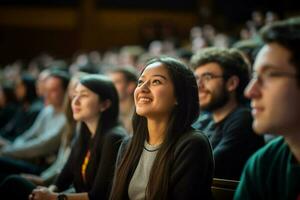
[[[257,151],[243,171],[235,200],[300,198],[300,164],[282,137]]]

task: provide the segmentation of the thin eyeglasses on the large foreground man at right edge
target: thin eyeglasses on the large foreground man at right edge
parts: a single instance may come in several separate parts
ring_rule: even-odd
[[[257,81],[261,86],[264,86],[276,78],[297,78],[298,76],[291,72],[280,71],[265,71],[262,73],[253,72],[251,81]]]

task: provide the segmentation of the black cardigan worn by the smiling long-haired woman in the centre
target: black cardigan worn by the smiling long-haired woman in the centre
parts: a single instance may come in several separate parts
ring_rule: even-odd
[[[130,141],[122,143],[117,163]],[[212,149],[207,137],[199,131],[184,134],[174,149],[168,199],[211,199],[213,170]]]

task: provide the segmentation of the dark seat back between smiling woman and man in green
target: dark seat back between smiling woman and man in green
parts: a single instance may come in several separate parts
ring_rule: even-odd
[[[215,200],[232,200],[239,181],[214,178],[212,194]]]

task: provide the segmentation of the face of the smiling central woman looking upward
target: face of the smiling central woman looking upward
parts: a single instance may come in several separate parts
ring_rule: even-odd
[[[170,75],[162,63],[147,66],[138,81],[134,100],[138,115],[167,122],[177,102]]]

